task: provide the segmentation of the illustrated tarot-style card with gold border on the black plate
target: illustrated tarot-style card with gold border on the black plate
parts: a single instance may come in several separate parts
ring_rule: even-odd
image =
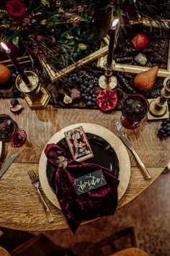
[[[64,132],[64,135],[73,160],[81,162],[94,156],[83,127],[71,129],[68,132]]]

